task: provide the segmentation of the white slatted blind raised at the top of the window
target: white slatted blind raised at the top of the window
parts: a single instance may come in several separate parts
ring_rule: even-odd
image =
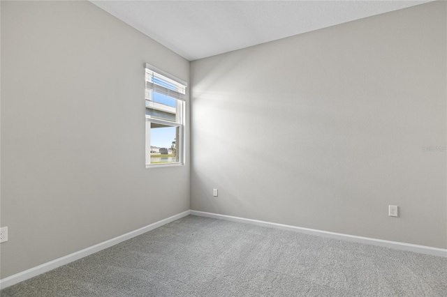
[[[162,70],[146,64],[146,89],[178,99],[186,100],[186,82]]]

